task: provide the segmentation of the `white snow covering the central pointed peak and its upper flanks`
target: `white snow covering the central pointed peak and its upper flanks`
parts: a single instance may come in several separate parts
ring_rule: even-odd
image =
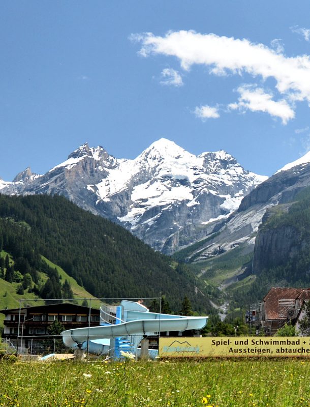
[[[221,162],[230,163],[223,166]],[[249,180],[244,180],[242,190],[231,194],[233,185],[245,174],[249,175]],[[107,202],[132,184],[129,211],[118,220],[130,222],[134,229],[150,208],[167,207],[181,201],[185,201],[188,208],[194,207],[200,205],[198,198],[202,192],[217,194],[222,198],[223,211],[231,212],[238,208],[244,192],[264,179],[266,177],[244,171],[223,151],[195,156],[161,138],[136,159],[119,161],[96,187],[99,200]],[[230,193],[219,194],[219,186],[225,186]],[[147,221],[152,220],[148,218]]]

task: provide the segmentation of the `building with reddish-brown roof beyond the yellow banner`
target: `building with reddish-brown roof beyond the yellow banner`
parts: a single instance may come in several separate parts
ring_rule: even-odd
[[[286,323],[295,325],[309,299],[310,288],[272,287],[260,304],[259,318],[265,335],[274,335]]]

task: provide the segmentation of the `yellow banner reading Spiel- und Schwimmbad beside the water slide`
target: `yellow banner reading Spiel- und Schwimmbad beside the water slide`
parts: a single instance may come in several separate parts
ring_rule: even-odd
[[[160,338],[162,358],[310,356],[310,337],[204,337]]]

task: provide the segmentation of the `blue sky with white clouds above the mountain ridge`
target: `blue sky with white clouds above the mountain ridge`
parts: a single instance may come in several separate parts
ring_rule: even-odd
[[[0,177],[161,137],[271,175],[310,148],[309,15],[304,0],[2,2]]]

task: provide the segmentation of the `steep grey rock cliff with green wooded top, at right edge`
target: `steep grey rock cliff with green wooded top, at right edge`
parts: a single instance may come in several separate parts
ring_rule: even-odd
[[[295,281],[310,273],[310,188],[305,187],[289,203],[266,211],[258,230],[253,273],[273,270]],[[274,271],[276,270],[276,271]]]

